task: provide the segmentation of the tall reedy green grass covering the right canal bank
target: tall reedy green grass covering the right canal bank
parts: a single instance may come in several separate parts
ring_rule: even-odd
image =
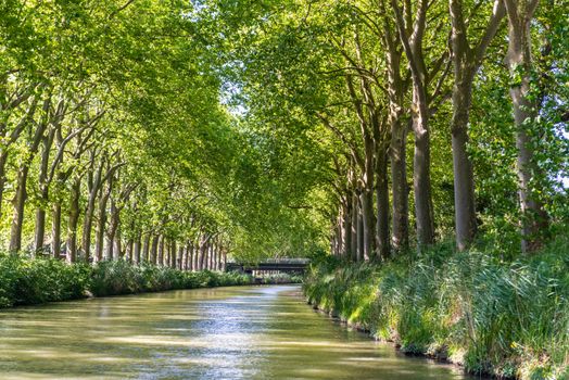
[[[569,239],[508,263],[452,246],[382,266],[328,257],[312,265],[304,291],[407,353],[497,377],[569,378]]]

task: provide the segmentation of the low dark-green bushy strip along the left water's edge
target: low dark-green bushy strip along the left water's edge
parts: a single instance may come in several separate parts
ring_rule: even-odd
[[[262,283],[287,283],[284,276]],[[290,281],[289,281],[290,282]],[[118,259],[96,265],[66,264],[53,258],[0,254],[0,308],[87,296],[106,296],[257,283],[239,273],[182,271]]]

